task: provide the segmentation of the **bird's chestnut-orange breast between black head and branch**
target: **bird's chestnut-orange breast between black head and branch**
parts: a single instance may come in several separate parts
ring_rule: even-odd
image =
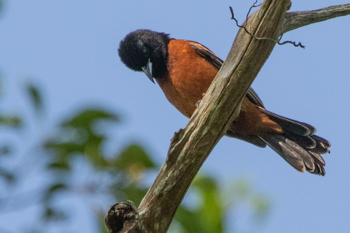
[[[156,81],[169,102],[190,118],[196,109],[196,102],[203,98],[202,94],[207,92],[218,70],[198,56],[185,40],[172,39],[168,45],[168,54],[169,73],[167,77]]]

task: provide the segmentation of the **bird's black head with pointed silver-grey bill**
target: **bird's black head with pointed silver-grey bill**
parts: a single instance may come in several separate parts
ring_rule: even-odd
[[[120,60],[131,70],[144,71],[151,81],[167,72],[169,35],[151,30],[130,32],[120,41]]]

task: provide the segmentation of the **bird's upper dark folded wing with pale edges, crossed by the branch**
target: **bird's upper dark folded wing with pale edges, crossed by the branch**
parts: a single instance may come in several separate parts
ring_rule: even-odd
[[[189,43],[198,54],[200,54],[203,58],[207,59],[207,61],[209,61],[213,66],[217,67],[218,69],[221,68],[224,61],[221,60],[218,56],[216,56],[215,53],[210,51],[210,49],[194,41],[189,41]],[[246,96],[250,101],[252,101],[252,103],[264,108],[264,104],[260,100],[258,94],[253,90],[253,88],[250,87],[248,89]]]

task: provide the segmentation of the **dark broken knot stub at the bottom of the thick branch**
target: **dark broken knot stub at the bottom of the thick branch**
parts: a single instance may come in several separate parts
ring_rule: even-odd
[[[111,205],[105,217],[105,224],[110,233],[142,233],[139,212],[131,201]]]

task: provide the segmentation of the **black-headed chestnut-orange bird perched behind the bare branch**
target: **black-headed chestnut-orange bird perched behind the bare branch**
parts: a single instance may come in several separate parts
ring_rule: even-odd
[[[148,29],[127,34],[119,43],[118,54],[126,67],[144,72],[153,83],[155,80],[168,101],[188,118],[223,64],[200,43]],[[266,110],[257,93],[249,88],[225,135],[258,147],[269,146],[297,171],[324,176],[321,155],[329,153],[331,144],[315,132],[307,123]]]

